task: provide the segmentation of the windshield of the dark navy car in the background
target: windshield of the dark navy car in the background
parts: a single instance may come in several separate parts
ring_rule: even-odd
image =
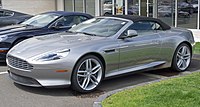
[[[22,22],[21,24],[36,26],[36,27],[44,27],[44,26],[47,26],[49,23],[51,23],[58,17],[59,15],[55,15],[55,14],[41,14],[41,15],[36,15]]]

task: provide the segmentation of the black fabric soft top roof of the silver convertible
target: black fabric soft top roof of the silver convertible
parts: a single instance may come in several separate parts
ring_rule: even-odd
[[[151,18],[151,17],[134,16],[134,15],[111,15],[110,17],[124,18],[124,19],[131,20],[133,22],[138,22],[138,21],[153,21],[153,22],[157,22],[158,24],[160,24],[163,30],[169,30],[169,29],[171,29],[171,27],[169,25],[165,24],[160,19]]]

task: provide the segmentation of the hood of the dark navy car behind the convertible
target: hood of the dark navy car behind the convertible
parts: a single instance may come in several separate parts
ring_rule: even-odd
[[[31,31],[31,30],[37,30],[37,29],[39,29],[39,27],[27,26],[27,25],[22,25],[22,24],[10,25],[6,27],[1,27],[0,35],[18,33],[18,32],[23,32],[23,31]]]

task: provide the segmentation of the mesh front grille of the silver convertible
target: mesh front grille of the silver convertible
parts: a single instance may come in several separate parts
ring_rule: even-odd
[[[29,64],[25,60],[16,58],[14,56],[8,56],[8,64],[19,69],[24,69],[24,70],[33,69],[33,66],[31,64]]]

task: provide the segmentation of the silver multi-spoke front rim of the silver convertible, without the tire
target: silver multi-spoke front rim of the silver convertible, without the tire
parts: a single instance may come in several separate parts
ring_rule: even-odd
[[[83,90],[93,90],[102,78],[102,66],[97,59],[85,59],[77,71],[77,82]]]

